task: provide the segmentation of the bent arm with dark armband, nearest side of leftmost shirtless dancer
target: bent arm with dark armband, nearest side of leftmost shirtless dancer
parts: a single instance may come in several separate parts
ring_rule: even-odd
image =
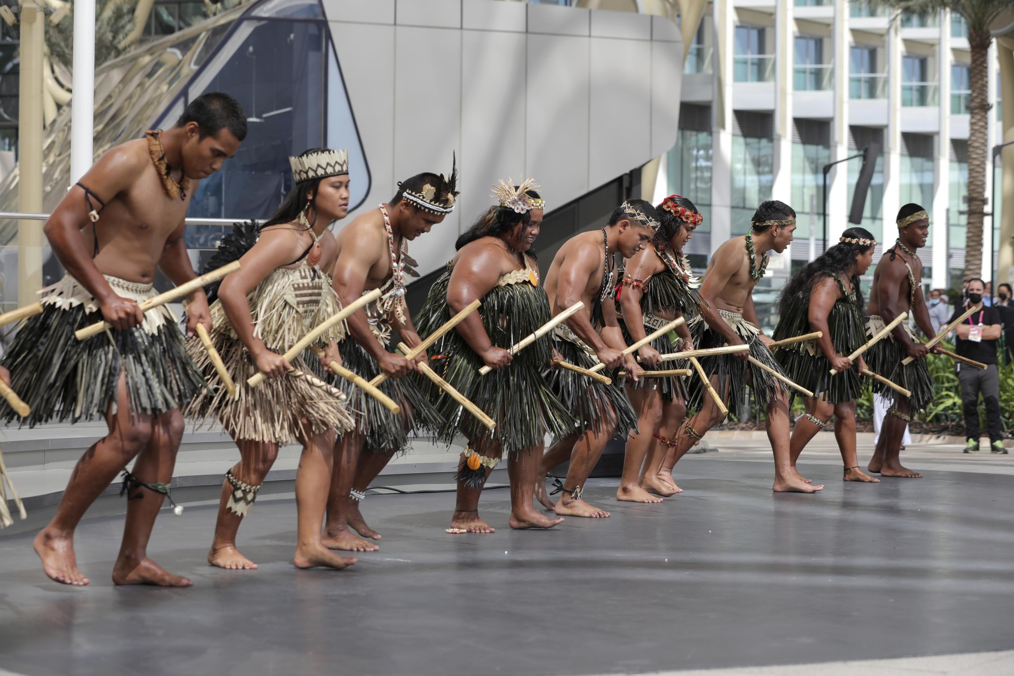
[[[117,147],[102,155],[81,178],[80,183],[87,186],[98,199],[108,203],[133,185],[149,161],[147,157],[141,157],[130,149]],[[116,329],[129,329],[143,321],[144,313],[133,300],[117,295],[95,267],[91,252],[81,236],[81,229],[91,224],[85,197],[81,186],[72,187],[53,210],[43,231],[53,247],[53,253],[67,272],[98,301],[105,321]],[[90,199],[95,209],[100,210],[101,205],[95,198]]]

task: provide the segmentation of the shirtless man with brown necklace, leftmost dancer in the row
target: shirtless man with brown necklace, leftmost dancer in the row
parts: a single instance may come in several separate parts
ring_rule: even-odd
[[[191,585],[149,559],[146,549],[183,435],[179,406],[201,392],[203,381],[171,312],[142,313],[138,302],[155,295],[158,269],[175,284],[195,278],[184,242],[187,208],[197,182],[220,170],[245,135],[246,115],[235,98],[199,96],[171,129],[102,155],[46,223],[68,274],[43,298],[43,314],[20,327],[4,364],[31,406],[29,425],[102,416],[110,430],[78,461],[56,516],[35,537],[43,569],[57,582],[88,584],[74,557],[74,530],[137,457],[125,475],[127,525],[113,582]],[[204,291],[188,298],[188,333],[198,323],[210,329]],[[115,344],[105,333],[74,338],[76,329],[103,319]],[[4,413],[13,417],[9,408]]]

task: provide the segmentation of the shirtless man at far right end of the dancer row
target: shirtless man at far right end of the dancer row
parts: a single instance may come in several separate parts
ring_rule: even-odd
[[[873,272],[866,333],[872,337],[903,312],[909,313],[909,319],[895,327],[889,336],[875,343],[866,353],[866,361],[871,370],[910,390],[912,396],[904,397],[874,381],[874,393],[888,401],[893,400],[893,406],[887,409],[884,416],[880,440],[867,469],[880,476],[915,479],[923,475],[902,467],[898,456],[912,412],[924,410],[933,401],[933,379],[925,357],[937,348],[928,348],[920,343],[909,324],[909,320],[915,319],[929,338],[936,336],[923,298],[923,262],[916,255],[916,250],[926,246],[930,217],[918,204],[906,204],[897,212],[896,221],[897,242],[884,252]],[[915,361],[902,364],[901,360],[908,356]]]

